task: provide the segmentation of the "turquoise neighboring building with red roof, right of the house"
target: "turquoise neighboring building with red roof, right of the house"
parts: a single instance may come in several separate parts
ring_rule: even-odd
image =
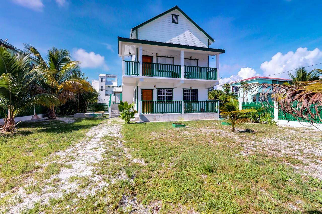
[[[268,84],[283,84],[283,83],[292,83],[291,79],[284,78],[276,78],[276,77],[265,77],[265,76],[253,76],[247,79],[242,79],[240,81],[230,82],[229,84],[232,86],[231,91],[234,94],[239,94],[239,102],[258,102],[260,101],[260,93],[261,90],[249,90],[247,93],[243,92],[240,88],[241,83],[246,82],[248,84],[252,83],[268,83]],[[268,101],[271,101],[271,95],[268,95]]]

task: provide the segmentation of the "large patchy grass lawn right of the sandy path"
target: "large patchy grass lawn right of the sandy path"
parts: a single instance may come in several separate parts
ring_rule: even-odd
[[[164,213],[322,211],[322,183],[303,170],[322,160],[305,152],[321,149],[321,132],[245,124],[238,128],[254,132],[232,133],[219,121],[185,124],[180,129],[169,122],[123,125],[125,147],[146,163],[125,166],[135,174],[125,194]],[[304,152],[293,154],[298,150],[292,145],[298,144]]]

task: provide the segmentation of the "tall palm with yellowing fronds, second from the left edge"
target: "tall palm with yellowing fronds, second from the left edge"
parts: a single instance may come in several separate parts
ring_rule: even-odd
[[[79,78],[82,74],[79,62],[71,59],[68,50],[58,50],[53,47],[48,50],[46,60],[44,60],[33,46],[25,44],[25,48],[40,62],[39,67],[43,69],[41,82],[44,89],[60,101],[59,104],[49,107],[49,119],[56,119],[57,107],[68,100],[75,100],[75,94],[78,91],[92,91],[90,83]]]

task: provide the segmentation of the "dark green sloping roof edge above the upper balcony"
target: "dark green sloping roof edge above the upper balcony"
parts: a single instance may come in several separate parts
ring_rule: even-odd
[[[149,40],[129,39],[124,37],[118,37],[118,42],[132,42],[132,43],[146,44],[146,45],[157,45],[157,46],[165,46],[165,47],[173,47],[173,48],[183,48],[183,49],[210,51],[210,52],[216,52],[216,53],[225,53],[225,50],[223,49],[204,48],[204,47],[198,47],[198,46],[192,46],[192,45],[173,44],[173,43],[149,41]]]

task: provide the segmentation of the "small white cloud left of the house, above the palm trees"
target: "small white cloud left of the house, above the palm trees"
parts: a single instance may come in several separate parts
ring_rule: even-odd
[[[77,49],[73,52],[73,57],[81,62],[82,68],[102,68],[105,71],[109,70],[109,67],[105,63],[105,58],[94,52],[86,52],[84,49]]]

